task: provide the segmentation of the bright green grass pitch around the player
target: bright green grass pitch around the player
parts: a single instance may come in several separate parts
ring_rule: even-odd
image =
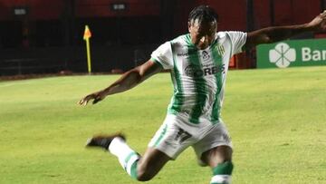
[[[168,73],[81,107],[117,75],[0,82],[0,183],[138,183],[101,150],[94,133],[124,131],[142,153],[164,120]],[[223,117],[235,146],[233,183],[326,183],[326,67],[231,71]],[[150,181],[206,184],[188,149]]]

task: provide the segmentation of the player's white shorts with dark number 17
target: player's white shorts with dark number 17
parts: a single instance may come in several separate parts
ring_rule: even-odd
[[[167,115],[149,142],[149,147],[166,153],[172,160],[176,160],[183,150],[192,146],[199,163],[203,152],[222,145],[232,148],[229,133],[222,121],[202,126],[189,123],[187,117],[173,114]]]

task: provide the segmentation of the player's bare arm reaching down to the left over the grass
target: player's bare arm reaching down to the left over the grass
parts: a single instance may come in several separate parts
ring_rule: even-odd
[[[120,79],[110,84],[109,87],[83,97],[78,103],[80,105],[87,105],[87,103],[90,101],[93,101],[93,104],[100,102],[107,95],[128,91],[129,89],[137,86],[140,82],[145,81],[150,76],[159,73],[162,70],[163,68],[159,63],[149,60],[148,62],[143,63],[126,73],[123,73]]]

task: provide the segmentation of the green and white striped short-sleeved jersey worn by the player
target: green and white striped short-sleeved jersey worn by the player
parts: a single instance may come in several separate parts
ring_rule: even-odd
[[[161,44],[151,60],[170,69],[174,94],[168,113],[186,115],[194,124],[221,121],[225,78],[229,60],[242,52],[246,35],[243,32],[218,32],[205,50],[191,43],[190,34]]]

